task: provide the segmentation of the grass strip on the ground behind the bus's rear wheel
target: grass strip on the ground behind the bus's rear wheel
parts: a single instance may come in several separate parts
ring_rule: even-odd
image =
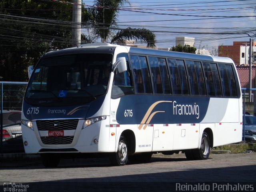
[[[252,150],[256,152],[256,143],[223,145],[223,146],[214,147],[213,150],[230,150],[232,153],[242,153],[248,150]]]

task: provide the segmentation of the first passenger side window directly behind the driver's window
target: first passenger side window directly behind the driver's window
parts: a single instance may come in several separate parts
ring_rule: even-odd
[[[137,93],[152,93],[146,57],[131,55],[134,88]]]

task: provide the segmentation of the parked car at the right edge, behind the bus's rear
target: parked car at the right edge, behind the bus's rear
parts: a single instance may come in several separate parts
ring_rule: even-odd
[[[249,114],[244,115],[243,138],[245,138],[246,141],[256,141],[256,116]]]

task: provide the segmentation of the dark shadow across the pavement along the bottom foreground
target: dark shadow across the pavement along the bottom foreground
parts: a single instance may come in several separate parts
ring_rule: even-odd
[[[171,167],[168,167],[169,169]],[[122,169],[117,168],[116,171]],[[238,187],[241,190],[242,186],[247,186],[249,190],[255,190],[256,182],[254,173],[256,166],[236,166],[222,168],[193,168],[187,170],[170,171],[168,169],[158,173],[146,174],[129,174],[122,176],[107,176],[97,178],[74,178],[65,180],[54,180],[45,182],[29,182],[22,183],[22,186],[27,187],[29,191],[48,191],[48,192],[63,192],[63,191],[179,191],[179,186],[202,187],[202,191],[219,191],[217,187],[220,185],[222,191],[237,191]],[[63,173],[62,173],[63,174]],[[84,173],[86,174],[86,172]],[[87,176],[88,177],[88,176]],[[18,187],[18,183],[16,183]],[[178,185],[178,189],[177,189]],[[238,186],[239,185],[239,186]],[[223,186],[228,188],[223,188]],[[205,188],[209,187],[209,188]],[[4,190],[4,186],[0,186]],[[22,187],[20,187],[22,188]],[[236,188],[236,190],[234,190]],[[188,188],[187,188],[188,189]],[[192,188],[195,190],[195,188]],[[203,190],[204,189],[204,190]],[[209,189],[209,190],[208,190]],[[186,191],[193,191],[186,190]],[[14,191],[14,190],[12,190]]]

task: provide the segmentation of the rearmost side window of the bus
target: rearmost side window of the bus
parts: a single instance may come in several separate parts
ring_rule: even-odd
[[[222,82],[223,96],[237,96],[236,83],[231,65],[218,64]]]

